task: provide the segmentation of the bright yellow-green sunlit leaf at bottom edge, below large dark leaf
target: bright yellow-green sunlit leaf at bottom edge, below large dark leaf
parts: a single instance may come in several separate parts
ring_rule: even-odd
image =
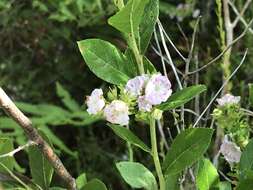
[[[219,174],[213,164],[208,159],[201,160],[196,179],[198,189],[211,189],[215,187],[218,182]]]

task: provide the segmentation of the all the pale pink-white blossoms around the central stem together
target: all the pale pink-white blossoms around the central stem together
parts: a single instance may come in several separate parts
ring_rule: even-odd
[[[171,95],[171,83],[160,73],[152,76],[141,75],[130,79],[125,86],[125,93],[136,98],[140,111],[150,112],[154,105],[165,102]],[[113,124],[128,125],[129,107],[122,100],[113,100],[106,105],[102,89],[94,89],[87,97],[89,114],[103,113],[105,119]]]

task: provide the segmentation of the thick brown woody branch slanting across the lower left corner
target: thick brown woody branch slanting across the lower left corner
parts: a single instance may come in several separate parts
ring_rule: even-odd
[[[76,190],[75,179],[69,174],[61,160],[54,153],[48,143],[39,135],[38,131],[32,126],[32,122],[17,108],[12,100],[0,87],[0,107],[6,114],[14,119],[26,133],[28,139],[33,141],[41,150],[45,158],[52,164],[55,172],[68,185],[68,189]]]

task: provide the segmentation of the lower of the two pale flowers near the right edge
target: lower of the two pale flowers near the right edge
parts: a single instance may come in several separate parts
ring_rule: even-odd
[[[242,154],[240,147],[238,147],[235,143],[229,141],[227,135],[225,136],[222,145],[220,146],[220,153],[230,164],[239,163]]]

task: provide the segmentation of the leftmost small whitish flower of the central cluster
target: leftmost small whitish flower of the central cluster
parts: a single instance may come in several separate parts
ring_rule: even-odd
[[[97,114],[105,106],[102,89],[94,89],[90,96],[87,96],[86,104],[89,114]]]

